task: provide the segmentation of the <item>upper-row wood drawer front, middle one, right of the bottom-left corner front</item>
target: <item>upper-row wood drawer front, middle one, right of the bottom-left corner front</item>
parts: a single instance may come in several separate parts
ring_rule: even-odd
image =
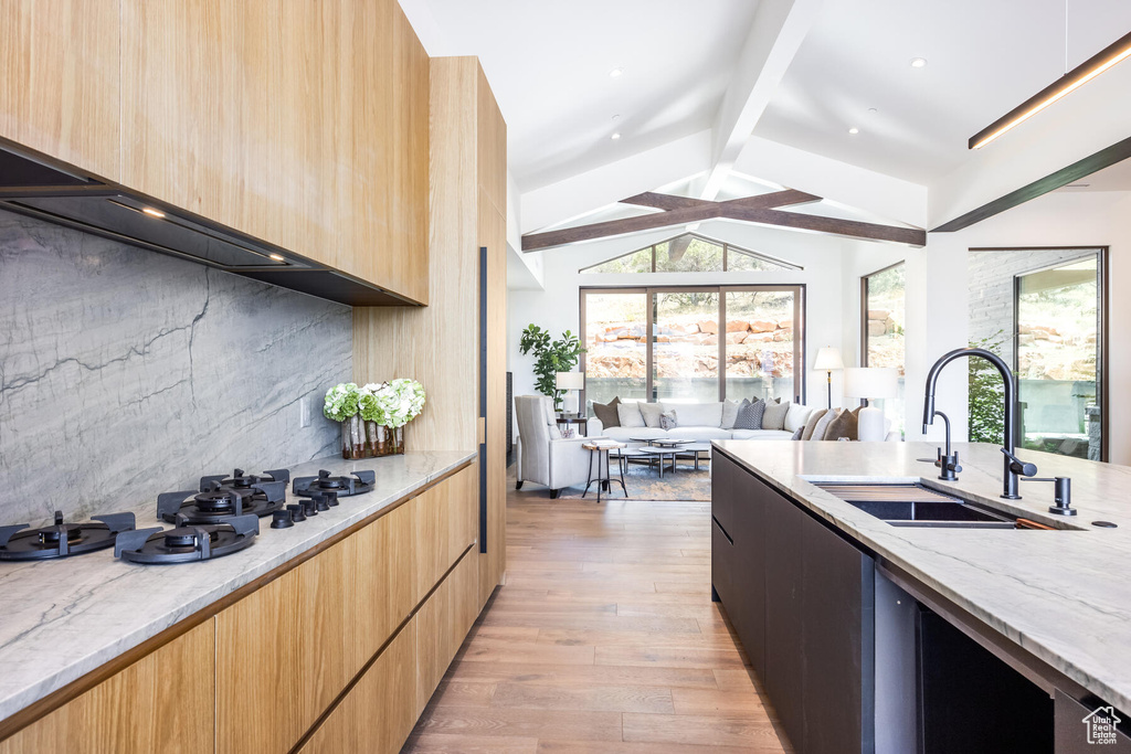
[[[412,537],[406,503],[216,616],[217,752],[291,751],[415,605]]]

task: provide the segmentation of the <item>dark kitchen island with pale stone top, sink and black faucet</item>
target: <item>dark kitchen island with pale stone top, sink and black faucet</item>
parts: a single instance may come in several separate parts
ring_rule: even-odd
[[[1057,736],[1062,702],[1085,702],[1085,714],[1100,703],[1131,710],[1131,468],[1019,453],[1042,478],[1072,478],[1079,514],[1069,518],[1048,512],[1051,483],[1022,482],[1022,500],[1000,499],[995,445],[958,444],[964,470],[957,482],[941,482],[933,463],[920,460],[935,457],[927,443],[714,444],[715,591],[798,751],[914,744],[933,713],[921,710],[916,720],[916,688],[922,694],[926,683],[934,693],[956,681],[924,679],[931,655],[923,636],[950,626],[961,635],[946,635],[948,647],[967,652],[962,642],[976,644],[964,656],[974,669],[947,655],[944,670],[967,673],[969,692],[977,668],[1000,661],[1008,673],[996,681],[1017,676],[1028,684],[1018,684],[1018,694],[1031,686],[1048,704],[1039,725],[1050,735],[1057,692]],[[814,484],[834,482],[923,483],[1054,530],[893,526]],[[809,692],[801,687],[806,673],[820,677]],[[848,696],[829,691],[838,681]],[[812,707],[832,704],[830,694],[851,708],[841,722],[858,749],[843,738],[822,745],[836,713]],[[910,703],[897,703],[908,696]],[[1073,725],[1082,735],[1081,718]],[[1057,738],[1056,751],[1071,749]]]

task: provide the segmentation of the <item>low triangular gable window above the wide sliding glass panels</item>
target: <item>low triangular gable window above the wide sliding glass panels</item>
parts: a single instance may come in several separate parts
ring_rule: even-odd
[[[777,272],[803,269],[797,265],[714,241],[696,233],[684,233],[651,246],[607,259],[581,269],[581,272]]]

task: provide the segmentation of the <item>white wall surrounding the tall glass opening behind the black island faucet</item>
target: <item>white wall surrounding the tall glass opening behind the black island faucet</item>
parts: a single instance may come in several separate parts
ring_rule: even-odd
[[[1108,246],[1110,459],[1131,463],[1131,192],[1053,192],[958,233],[934,233],[922,250],[907,255],[907,439],[920,437],[923,385],[934,361],[968,341],[967,251],[970,248]],[[848,265],[845,286],[858,286],[861,266]],[[845,296],[845,320],[860,332],[858,294]],[[1009,327],[1009,323],[1005,323]],[[966,437],[966,370],[948,367],[936,404],[947,410],[958,439]],[[949,410],[948,410],[949,409]],[[927,435],[941,439],[941,426]]]

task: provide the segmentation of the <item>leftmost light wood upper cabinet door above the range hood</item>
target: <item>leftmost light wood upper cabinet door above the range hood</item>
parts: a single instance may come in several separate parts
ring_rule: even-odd
[[[119,0],[0,0],[0,138],[119,177]]]

